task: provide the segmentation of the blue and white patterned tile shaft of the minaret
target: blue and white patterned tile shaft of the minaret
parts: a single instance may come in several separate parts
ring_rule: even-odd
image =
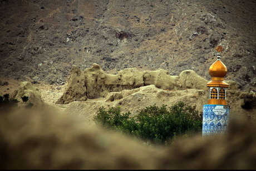
[[[204,105],[203,136],[227,132],[228,118],[228,105]]]

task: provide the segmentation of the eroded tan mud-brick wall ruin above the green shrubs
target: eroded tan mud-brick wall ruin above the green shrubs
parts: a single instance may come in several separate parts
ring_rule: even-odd
[[[139,71],[135,68],[124,69],[116,75],[106,74],[98,64],[81,71],[72,67],[66,90],[57,103],[86,101],[105,97],[108,92],[136,89],[141,86],[155,85],[163,90],[202,89],[206,90],[207,80],[193,70],[185,70],[179,76],[171,76],[163,69]],[[237,90],[234,81],[227,81],[231,90]]]

